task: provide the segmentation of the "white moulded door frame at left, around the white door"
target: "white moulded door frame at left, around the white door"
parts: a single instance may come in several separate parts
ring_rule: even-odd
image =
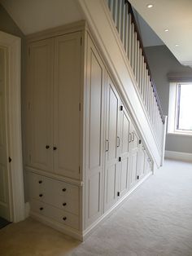
[[[10,199],[10,221],[19,222],[24,213],[24,174],[21,139],[21,89],[20,63],[21,40],[11,34],[0,31],[0,45],[7,48],[7,133],[8,153],[8,188]],[[8,159],[7,159],[8,161]]]

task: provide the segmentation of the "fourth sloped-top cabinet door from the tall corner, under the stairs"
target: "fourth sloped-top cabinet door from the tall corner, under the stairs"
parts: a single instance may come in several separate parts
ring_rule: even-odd
[[[130,188],[137,183],[137,168],[138,168],[138,135],[132,124],[131,132],[131,153],[130,153],[130,168],[129,168],[129,182]]]

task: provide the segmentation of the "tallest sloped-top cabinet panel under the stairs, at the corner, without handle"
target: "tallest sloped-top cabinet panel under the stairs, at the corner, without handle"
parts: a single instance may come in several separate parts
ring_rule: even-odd
[[[85,86],[85,227],[103,213],[103,124],[105,67],[88,38]]]

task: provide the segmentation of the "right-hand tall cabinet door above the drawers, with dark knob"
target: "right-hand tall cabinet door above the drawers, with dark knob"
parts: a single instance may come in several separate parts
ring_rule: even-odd
[[[55,173],[79,179],[81,33],[55,38]]]

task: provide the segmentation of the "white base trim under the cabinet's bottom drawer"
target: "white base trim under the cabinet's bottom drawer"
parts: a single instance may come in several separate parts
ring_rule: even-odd
[[[59,232],[64,233],[65,235],[72,236],[73,238],[76,238],[79,241],[83,241],[81,232],[78,232],[77,230],[74,230],[71,227],[63,227],[61,223],[57,223],[53,219],[46,218],[45,216],[42,216],[34,212],[30,212],[30,217],[36,219],[40,223],[43,223],[49,227],[56,229]]]

